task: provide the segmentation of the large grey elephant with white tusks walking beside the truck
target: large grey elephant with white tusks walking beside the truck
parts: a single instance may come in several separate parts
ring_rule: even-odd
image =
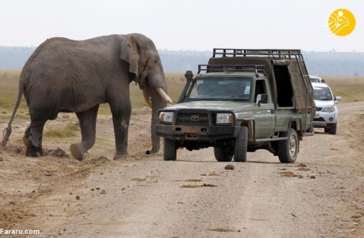
[[[114,160],[127,155],[131,114],[129,84],[139,84],[152,108],[152,149],[157,153],[160,137],[154,133],[156,112],[172,103],[161,59],[153,41],[143,34],[100,36],[86,40],[54,37],[41,43],[25,63],[19,79],[16,106],[2,146],[11,134],[11,124],[24,94],[30,125],[24,133],[26,156],[43,156],[42,134],[47,120],[59,112],[75,112],[82,139],[70,146],[72,156],[81,161],[96,139],[99,105],[110,105],[116,153]]]

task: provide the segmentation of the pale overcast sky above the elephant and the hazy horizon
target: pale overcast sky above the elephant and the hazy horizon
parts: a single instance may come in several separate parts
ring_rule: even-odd
[[[340,8],[356,18],[347,36],[332,34],[326,25]],[[3,46],[138,32],[167,50],[364,52],[364,1],[359,0],[1,0],[0,10]]]

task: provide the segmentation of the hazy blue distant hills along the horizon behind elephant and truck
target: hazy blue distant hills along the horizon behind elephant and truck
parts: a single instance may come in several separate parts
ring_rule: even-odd
[[[0,46],[0,69],[21,69],[35,47]],[[166,73],[196,73],[198,64],[207,64],[212,56],[208,51],[159,50]],[[310,74],[364,75],[364,53],[361,52],[303,52]]]

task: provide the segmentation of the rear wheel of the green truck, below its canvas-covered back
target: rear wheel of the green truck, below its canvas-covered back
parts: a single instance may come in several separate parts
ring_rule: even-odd
[[[281,163],[294,163],[297,159],[299,140],[297,131],[289,128],[283,136],[287,136],[286,140],[277,141],[277,153]]]

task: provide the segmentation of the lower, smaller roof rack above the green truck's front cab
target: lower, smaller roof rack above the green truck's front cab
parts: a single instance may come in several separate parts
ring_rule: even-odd
[[[258,72],[267,75],[264,65],[199,65],[198,74],[201,71],[208,72],[254,72],[258,75]]]

